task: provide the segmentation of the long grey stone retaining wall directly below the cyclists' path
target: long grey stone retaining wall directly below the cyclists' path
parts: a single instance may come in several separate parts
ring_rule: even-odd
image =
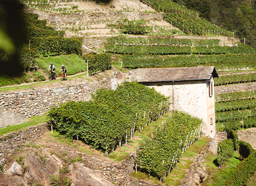
[[[51,106],[57,106],[68,100],[89,100],[91,94],[100,88],[110,89],[110,79],[67,87],[0,94],[0,119],[5,113],[21,114],[26,118],[43,115]]]

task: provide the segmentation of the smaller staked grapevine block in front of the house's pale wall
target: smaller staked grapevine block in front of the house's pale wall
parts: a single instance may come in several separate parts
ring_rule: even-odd
[[[172,112],[171,119],[156,128],[151,139],[141,142],[135,164],[162,181],[178,162],[180,154],[200,136],[200,126],[201,120],[178,111]]]

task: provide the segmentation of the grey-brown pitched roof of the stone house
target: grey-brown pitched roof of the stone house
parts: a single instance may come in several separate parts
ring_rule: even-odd
[[[131,80],[135,82],[205,80],[211,75],[218,78],[214,66],[181,67],[166,69],[135,69],[130,71]]]

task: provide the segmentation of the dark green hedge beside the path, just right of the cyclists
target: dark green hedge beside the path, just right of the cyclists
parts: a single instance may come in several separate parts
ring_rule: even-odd
[[[111,55],[110,54],[96,54],[89,53],[82,56],[85,62],[88,61],[88,72],[90,74],[111,69]]]

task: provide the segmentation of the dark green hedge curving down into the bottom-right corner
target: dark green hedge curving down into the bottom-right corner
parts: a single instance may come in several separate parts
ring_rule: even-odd
[[[247,158],[237,165],[225,186],[243,186],[256,172],[256,154],[251,145],[239,141],[239,153],[242,153],[241,156],[243,157],[247,156]]]

